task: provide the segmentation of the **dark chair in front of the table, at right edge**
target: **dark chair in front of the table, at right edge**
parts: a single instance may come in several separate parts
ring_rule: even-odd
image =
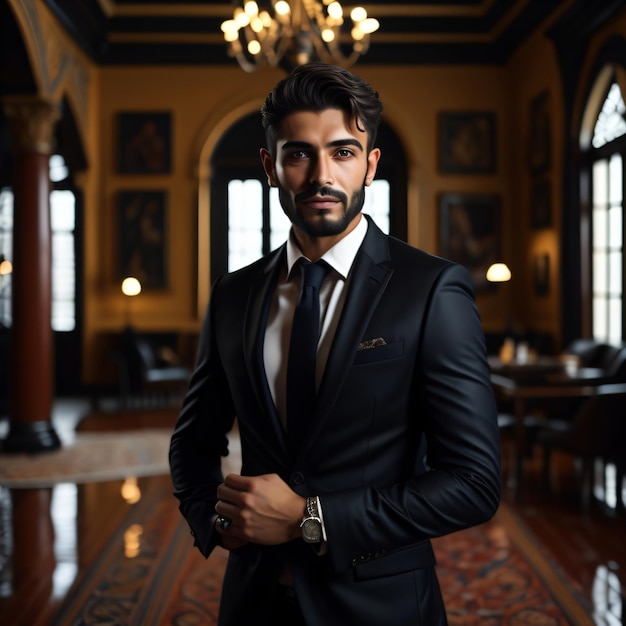
[[[594,464],[615,464],[616,502],[624,506],[622,483],[626,474],[626,393],[592,396],[578,410],[569,427],[551,426],[550,420],[539,429],[536,443],[543,448],[543,478],[551,490],[552,454],[558,450],[576,461],[577,486],[584,511],[589,510],[593,491]]]

